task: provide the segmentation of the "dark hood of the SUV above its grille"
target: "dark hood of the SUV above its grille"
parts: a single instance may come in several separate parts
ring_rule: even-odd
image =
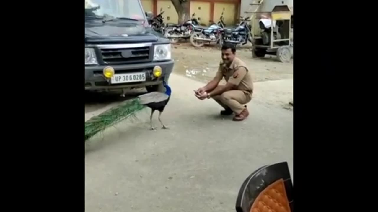
[[[140,22],[85,22],[85,42],[154,42],[162,37]]]

